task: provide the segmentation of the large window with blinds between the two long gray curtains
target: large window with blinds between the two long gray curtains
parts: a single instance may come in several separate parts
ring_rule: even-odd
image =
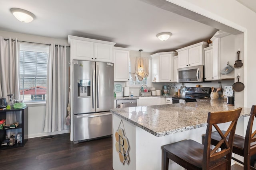
[[[20,98],[25,102],[46,100],[48,45],[20,43]]]

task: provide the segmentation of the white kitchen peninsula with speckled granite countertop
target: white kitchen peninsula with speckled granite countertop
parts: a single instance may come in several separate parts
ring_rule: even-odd
[[[208,112],[235,108],[237,107],[222,103],[222,100],[207,99],[181,104],[111,109],[114,170],[161,170],[163,145],[185,139],[193,139],[201,143],[201,135],[206,132]],[[243,108],[240,114],[242,120],[240,125],[238,121],[237,127],[243,128],[243,118],[249,115],[250,108]],[[119,127],[123,131],[122,141],[118,133]],[[226,127],[227,124],[224,124],[220,128]],[[128,139],[127,144],[124,143],[126,139]],[[122,161],[122,156],[118,152],[123,149],[128,150],[125,155],[125,158],[128,158],[126,161]],[[169,167],[172,170],[183,169],[172,161]]]

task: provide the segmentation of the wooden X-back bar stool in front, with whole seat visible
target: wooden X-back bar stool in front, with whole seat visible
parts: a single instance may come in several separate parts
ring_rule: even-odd
[[[169,159],[188,170],[230,170],[234,133],[241,110],[240,107],[230,111],[209,112],[204,145],[193,140],[165,145],[163,147],[164,170],[168,170]],[[223,134],[218,124],[226,122],[231,123],[226,133]],[[208,143],[211,140],[212,126],[215,127],[222,138],[214,149],[210,149],[210,142]],[[228,135],[229,139],[226,139]],[[222,144],[225,148],[217,152]]]

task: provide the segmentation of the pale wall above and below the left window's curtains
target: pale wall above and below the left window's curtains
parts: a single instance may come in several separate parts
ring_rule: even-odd
[[[68,37],[66,39],[53,39],[49,37],[42,37],[36,35],[28,35],[21,33],[14,33],[8,31],[1,31],[0,36],[4,38],[11,37],[12,39],[17,38],[19,41],[29,41],[34,43],[55,43],[60,45],[68,45]],[[28,138],[42,137],[60,133],[68,133],[69,130],[64,130],[54,133],[45,133],[44,130],[44,116],[45,116],[45,103],[41,104],[27,104],[28,106]]]

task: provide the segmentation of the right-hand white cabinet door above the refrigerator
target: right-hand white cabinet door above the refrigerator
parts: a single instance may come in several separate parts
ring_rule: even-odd
[[[109,44],[94,43],[94,61],[113,63],[112,47]]]

